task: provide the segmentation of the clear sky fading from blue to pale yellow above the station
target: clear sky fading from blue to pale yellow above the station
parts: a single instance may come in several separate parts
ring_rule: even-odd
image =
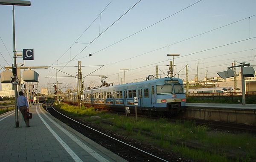
[[[77,86],[78,61],[84,85],[113,85],[175,75],[189,80],[218,76],[241,62],[256,65],[256,0],[31,0],[15,6],[16,50],[34,49],[25,66],[39,73],[39,89]],[[12,6],[0,5],[0,72],[13,64]],[[88,55],[92,54],[91,57]],[[17,58],[17,65],[23,64]],[[58,70],[57,70],[58,69]],[[240,69],[237,69],[239,71]],[[57,72],[57,77],[56,77]]]

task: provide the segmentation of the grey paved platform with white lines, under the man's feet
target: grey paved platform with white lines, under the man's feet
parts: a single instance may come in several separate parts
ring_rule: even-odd
[[[0,116],[0,162],[126,162],[111,151],[50,116],[41,104],[32,105],[30,126],[19,113]]]

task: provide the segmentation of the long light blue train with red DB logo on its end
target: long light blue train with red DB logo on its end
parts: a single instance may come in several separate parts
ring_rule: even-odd
[[[157,111],[177,114],[185,108],[183,81],[179,78],[160,78],[136,83],[84,90],[82,100],[85,106],[134,110],[134,97],[138,99],[138,111]],[[65,102],[78,102],[77,93],[63,95]]]

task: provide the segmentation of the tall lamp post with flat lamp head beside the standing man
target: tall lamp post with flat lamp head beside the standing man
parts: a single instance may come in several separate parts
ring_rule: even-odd
[[[15,127],[19,127],[19,117],[17,108],[17,65],[16,65],[16,46],[15,46],[15,19],[14,19],[14,6],[30,6],[28,0],[0,0],[0,5],[12,6],[12,28],[13,28],[13,76],[14,76],[14,94],[15,94]]]

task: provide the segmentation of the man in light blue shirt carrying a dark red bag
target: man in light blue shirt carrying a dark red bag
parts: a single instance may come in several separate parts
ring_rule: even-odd
[[[17,98],[18,109],[20,110],[20,112],[23,115],[23,119],[26,123],[26,127],[30,127],[29,126],[29,117],[27,115],[27,113],[29,112],[28,100],[26,99],[26,97],[24,96],[24,93],[22,91],[19,92],[19,95],[20,96]]]

